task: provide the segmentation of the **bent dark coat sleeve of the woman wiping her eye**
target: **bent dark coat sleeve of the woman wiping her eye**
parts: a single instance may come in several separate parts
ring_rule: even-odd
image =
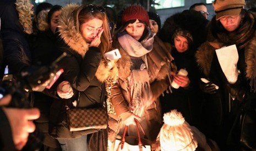
[[[68,80],[72,87],[78,91],[84,91],[95,78],[102,53],[99,48],[90,47],[84,59],[79,63],[77,57],[68,56],[62,60],[64,67],[63,78]]]

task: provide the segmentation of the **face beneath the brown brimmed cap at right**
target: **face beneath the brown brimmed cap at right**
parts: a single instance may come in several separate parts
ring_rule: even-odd
[[[229,32],[235,31],[239,27],[240,21],[241,21],[241,15],[224,16],[220,18],[220,22],[222,26],[225,28],[225,30]]]

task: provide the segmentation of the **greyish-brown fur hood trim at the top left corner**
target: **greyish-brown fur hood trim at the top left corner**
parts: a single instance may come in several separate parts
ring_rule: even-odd
[[[24,32],[31,34],[32,28],[32,17],[30,14],[30,1],[29,0],[17,0],[15,2],[16,9],[19,14],[19,22],[24,28]]]

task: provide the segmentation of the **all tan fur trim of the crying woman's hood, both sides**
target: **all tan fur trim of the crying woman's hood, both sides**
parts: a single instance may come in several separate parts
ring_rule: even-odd
[[[64,40],[64,42],[76,51],[83,58],[89,49],[89,44],[85,42],[81,33],[75,27],[75,17],[74,12],[80,7],[78,4],[67,4],[62,9],[62,13],[59,16],[59,36]],[[107,68],[107,61],[102,59],[100,65],[95,74],[100,82],[104,82],[108,76],[116,77],[118,76],[118,68],[113,65],[112,69]]]

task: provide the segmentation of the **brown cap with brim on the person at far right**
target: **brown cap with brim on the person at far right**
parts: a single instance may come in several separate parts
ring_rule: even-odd
[[[215,0],[213,2],[216,20],[223,16],[237,16],[244,8],[244,0]]]

